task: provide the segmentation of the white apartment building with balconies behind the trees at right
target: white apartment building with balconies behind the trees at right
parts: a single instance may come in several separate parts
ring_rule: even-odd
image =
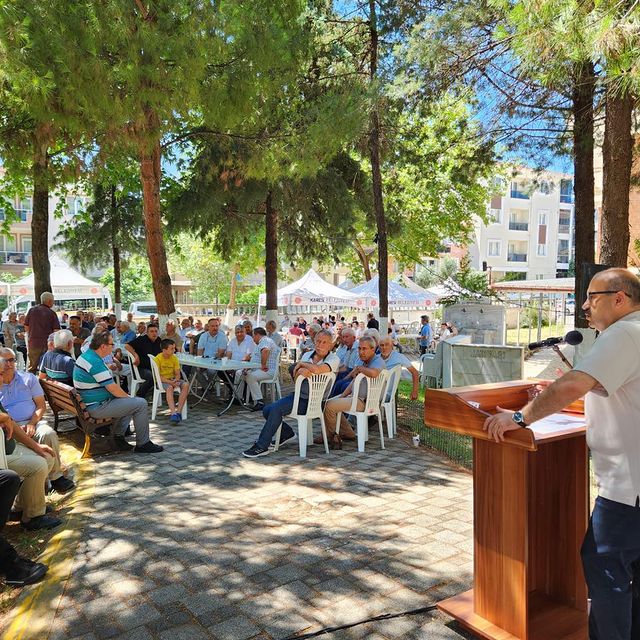
[[[486,263],[493,282],[566,276],[574,257],[572,176],[519,168],[501,186],[488,203],[489,222],[476,223],[472,267]]]

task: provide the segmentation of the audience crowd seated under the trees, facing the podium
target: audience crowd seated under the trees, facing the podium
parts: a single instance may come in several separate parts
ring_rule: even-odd
[[[53,295],[44,293],[40,305],[26,315],[10,313],[2,328],[0,428],[8,468],[0,471],[0,529],[7,519],[19,521],[26,530],[59,526],[61,520],[49,513],[46,494],[64,494],[75,488],[65,476],[58,433],[44,419],[46,403],[39,378],[73,387],[89,416],[113,420],[115,449],[140,454],[163,450],[150,437],[147,396],[154,384],[161,385],[166,394],[170,422],[179,423],[191,385],[216,381],[220,375],[208,369],[181,366],[177,355],[181,353],[238,363],[237,369],[230,376],[221,376],[221,380],[227,386],[242,389],[245,406],[261,411],[265,419],[257,440],[243,452],[249,458],[273,451],[273,438],[281,425],[280,445],[296,437],[290,425],[283,422],[291,412],[294,394],[270,404],[265,404],[262,394],[261,383],[277,379],[280,354],[285,349],[291,351],[294,360],[289,369],[293,381],[300,376],[305,379],[300,389],[299,413],[307,408],[308,379],[325,372],[336,374],[324,402],[327,436],[332,444],[355,439],[344,411],[354,402],[353,381],[359,374],[364,376],[355,400],[359,409],[366,399],[366,381],[397,365],[403,369],[402,377],[412,381],[412,399],[418,395],[418,372],[401,353],[393,319],[388,335],[381,338],[373,314],[368,314],[366,322],[333,315],[314,317],[311,322],[302,317],[291,321],[285,316],[280,327],[273,320],[264,327],[253,327],[248,318],[243,318],[228,340],[227,328],[218,318],[210,318],[206,326],[192,316],[181,318],[179,323],[168,320],[161,332],[155,318],[136,324],[132,314],[127,320],[118,320],[115,314],[96,317],[89,311],[63,313],[59,317],[53,303]],[[441,339],[455,333],[454,327],[442,324]],[[429,319],[423,316],[420,351],[433,347],[433,342]],[[17,358],[26,370],[17,368]],[[128,391],[134,375],[137,389],[132,396]],[[59,425],[58,431],[75,428],[75,424]],[[129,439],[134,434],[135,444],[131,444]],[[18,556],[0,537],[0,573],[7,584],[29,584],[41,579],[46,571],[46,566]]]

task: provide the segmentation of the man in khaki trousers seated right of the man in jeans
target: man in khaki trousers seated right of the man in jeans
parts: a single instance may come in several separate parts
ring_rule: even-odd
[[[336,432],[336,418],[338,413],[348,410],[351,407],[353,399],[353,378],[359,373],[363,373],[367,378],[377,378],[380,371],[385,369],[384,360],[376,354],[376,342],[371,336],[363,336],[358,344],[358,353],[362,364],[354,367],[347,377],[351,379],[349,386],[342,392],[342,395],[330,398],[324,408],[324,420],[327,426],[327,436],[331,439]],[[358,403],[356,405],[358,411],[364,409],[364,401],[367,398],[368,384],[366,381],[360,384],[358,390]],[[340,437],[343,440],[355,440],[356,434],[351,428],[349,421],[344,413],[341,415],[340,421]],[[315,441],[314,441],[315,442]],[[320,440],[321,442],[321,440]]]

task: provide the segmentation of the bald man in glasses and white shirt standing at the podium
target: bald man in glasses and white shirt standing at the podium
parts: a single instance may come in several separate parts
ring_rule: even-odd
[[[640,638],[640,281],[626,269],[596,274],[582,308],[600,331],[572,371],[521,411],[487,418],[496,440],[585,397],[598,497],[581,556],[591,598],[590,640]]]

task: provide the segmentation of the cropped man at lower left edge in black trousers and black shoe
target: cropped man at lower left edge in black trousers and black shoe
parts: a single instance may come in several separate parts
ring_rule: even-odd
[[[7,426],[2,425],[2,428],[7,429]],[[0,529],[7,522],[11,505],[19,490],[20,476],[10,469],[0,469]],[[46,572],[46,565],[19,556],[10,544],[0,537],[0,574],[4,576],[6,585],[24,587],[41,580]]]

